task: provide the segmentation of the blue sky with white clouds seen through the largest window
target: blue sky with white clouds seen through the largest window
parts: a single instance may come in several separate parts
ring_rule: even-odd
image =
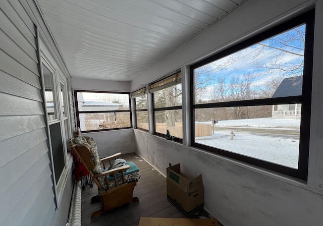
[[[208,74],[212,78],[208,81],[208,86],[217,84],[218,78],[225,79],[224,83],[230,84],[231,79],[243,80],[244,75],[249,74],[253,80],[252,86],[257,88],[265,86],[269,80],[275,77],[283,79],[302,75],[302,55],[304,54],[302,38],[304,37],[305,25],[301,25],[203,66],[213,70]],[[274,65],[273,63],[280,66],[281,69],[270,69],[269,65]],[[255,64],[263,67],[257,67]],[[301,65],[301,67],[297,70],[285,71],[291,70],[297,65]],[[203,67],[195,69],[195,73],[201,72]],[[206,76],[201,75],[200,78],[204,79]]]

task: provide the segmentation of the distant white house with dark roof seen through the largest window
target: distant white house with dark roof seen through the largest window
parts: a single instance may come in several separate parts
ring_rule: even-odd
[[[303,76],[295,76],[284,79],[272,98],[302,95]],[[302,104],[277,104],[273,105],[273,118],[276,119],[300,119]]]

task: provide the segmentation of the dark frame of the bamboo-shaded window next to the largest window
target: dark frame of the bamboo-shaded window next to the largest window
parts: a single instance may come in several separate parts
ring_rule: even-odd
[[[178,110],[178,109],[181,109],[182,110],[182,122],[183,122],[183,102],[180,106],[171,106],[171,107],[155,107],[155,99],[154,99],[154,92],[151,91],[151,86],[153,86],[154,84],[157,84],[163,80],[167,80],[169,79],[170,77],[176,75],[177,73],[181,73],[181,79],[183,78],[182,76],[182,72],[181,72],[181,69],[178,69],[170,74],[168,74],[167,76],[163,77],[162,79],[159,79],[157,81],[154,81],[152,83],[149,84],[149,93],[152,94],[152,114],[153,114],[153,134],[158,136],[158,137],[165,137],[165,134],[162,134],[162,133],[158,133],[156,132],[156,119],[155,119],[155,112],[156,111],[162,111],[162,110]],[[182,81],[181,81],[181,84],[182,84]],[[183,90],[183,89],[182,89]],[[183,93],[182,93],[183,94]],[[183,98],[183,95],[182,95],[182,98]],[[182,99],[183,100],[183,99]],[[184,126],[184,125],[183,125]],[[182,130],[183,130],[183,127],[182,127]],[[172,135],[172,134],[171,134]],[[184,134],[183,134],[184,135]],[[179,137],[175,137],[177,142],[179,143],[183,143],[183,138],[179,138]]]

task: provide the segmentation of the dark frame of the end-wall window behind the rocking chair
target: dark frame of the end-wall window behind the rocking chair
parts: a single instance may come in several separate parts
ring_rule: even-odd
[[[86,92],[86,93],[108,93],[108,94],[127,94],[129,97],[129,110],[95,110],[95,111],[79,111],[78,100],[77,100],[77,93],[78,92]],[[98,129],[98,130],[81,130],[82,133],[92,133],[92,132],[101,132],[101,131],[111,131],[111,130],[124,130],[124,129],[131,129],[132,128],[132,114],[131,114],[131,97],[130,92],[111,92],[111,91],[96,91],[96,90],[76,90],[74,89],[74,100],[75,100],[75,117],[77,127],[80,127],[80,114],[86,113],[117,113],[117,112],[129,112],[130,115],[130,126],[129,127],[122,127],[122,128],[110,128],[110,129]]]

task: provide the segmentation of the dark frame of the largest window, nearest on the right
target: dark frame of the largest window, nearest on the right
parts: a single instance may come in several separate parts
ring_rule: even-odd
[[[202,103],[197,104],[194,101],[194,70],[203,65],[226,57],[234,52],[240,51],[248,46],[259,43],[266,38],[278,35],[284,31],[287,31],[293,27],[306,24],[305,30],[305,48],[304,48],[304,68],[303,68],[303,92],[300,96],[289,96],[289,97],[277,97],[277,98],[266,98],[266,99],[251,99],[251,100],[240,100],[230,102],[217,102],[217,103]],[[314,42],[314,10],[311,10],[303,15],[295,17],[287,22],[279,24],[271,29],[261,32],[245,41],[235,44],[219,53],[212,55],[211,57],[197,62],[190,66],[190,104],[191,104],[191,146],[204,149],[216,154],[224,155],[239,161],[250,163],[252,165],[266,168],[284,175],[292,176],[294,178],[302,179],[307,181],[308,173],[308,156],[309,156],[309,134],[310,134],[310,117],[311,117],[311,92],[312,92],[312,63],[313,63],[313,42]],[[253,157],[241,155],[238,153],[222,150],[215,147],[206,146],[195,142],[195,109],[199,108],[213,108],[213,107],[235,107],[235,106],[254,106],[254,105],[274,105],[274,104],[285,104],[285,103],[301,103],[302,104],[302,115],[301,115],[301,126],[300,126],[300,144],[299,144],[299,157],[298,157],[298,168],[290,168],[288,166],[279,165],[276,163],[268,162],[265,160],[256,159]]]

